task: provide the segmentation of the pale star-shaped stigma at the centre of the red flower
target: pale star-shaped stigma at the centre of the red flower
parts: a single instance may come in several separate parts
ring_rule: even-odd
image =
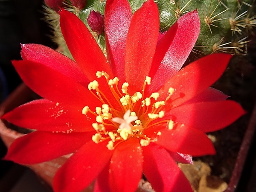
[[[131,111],[127,110],[123,116],[123,119],[120,117],[113,117],[112,121],[116,122],[119,125],[119,128],[122,129],[126,129],[126,130],[131,130],[131,128],[133,127],[133,125],[131,124],[131,122],[134,122],[138,119],[137,116],[130,116],[131,115]]]

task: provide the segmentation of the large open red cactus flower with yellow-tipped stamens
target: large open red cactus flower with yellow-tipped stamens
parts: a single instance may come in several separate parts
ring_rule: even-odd
[[[60,16],[76,62],[42,45],[22,45],[23,61],[13,64],[46,99],[2,117],[37,130],[18,138],[5,159],[31,164],[74,152],[55,175],[56,192],[79,192],[95,179],[95,191],[135,191],[142,174],[156,191],[191,192],[176,162],[215,154],[204,132],[244,114],[209,88],[231,56],[212,54],[180,70],[199,34],[198,14],[180,17],[158,40],[153,0],[134,15],[127,0],[107,1],[107,59],[81,20],[64,10]]]

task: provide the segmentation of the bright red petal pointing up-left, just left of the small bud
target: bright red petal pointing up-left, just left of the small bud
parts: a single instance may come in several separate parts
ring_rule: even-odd
[[[113,77],[107,59],[84,23],[73,13],[61,10],[61,32],[73,58],[90,81],[97,71],[105,71]]]

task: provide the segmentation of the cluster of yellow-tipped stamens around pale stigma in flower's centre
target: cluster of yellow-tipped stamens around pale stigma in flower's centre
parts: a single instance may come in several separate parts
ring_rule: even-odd
[[[111,94],[119,106],[114,106],[113,102],[109,101],[109,98],[99,89],[98,81],[94,80],[88,84],[90,92],[102,102],[102,106],[96,107],[95,111],[89,106],[85,106],[82,110],[84,115],[89,112],[96,116],[96,122],[92,124],[96,131],[92,137],[95,143],[108,140],[107,148],[113,150],[119,143],[136,137],[141,146],[147,146],[153,140],[143,134],[144,129],[160,123],[168,123],[169,129],[173,128],[172,120],[156,121],[164,116],[164,111],[161,109],[175,91],[172,87],[169,88],[169,95],[164,101],[157,101],[159,93],[152,93],[151,96],[144,98],[145,86],[151,83],[151,78],[148,76],[144,81],[142,92],[136,92],[132,96],[128,94],[128,82],[122,84],[120,91],[117,77],[109,79],[109,75],[104,71],[98,71],[96,76],[105,77]],[[158,135],[160,134],[159,132]]]

